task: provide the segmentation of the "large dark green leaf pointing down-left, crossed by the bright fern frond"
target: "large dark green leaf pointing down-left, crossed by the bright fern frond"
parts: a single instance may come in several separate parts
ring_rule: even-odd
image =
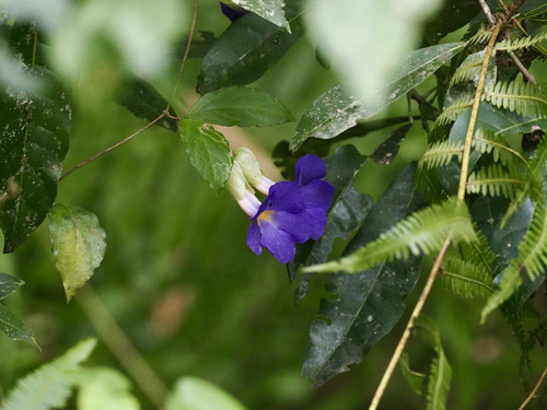
[[[346,254],[362,248],[394,222],[421,206],[412,183],[416,164],[408,165],[368,213]],[[333,274],[326,290],[336,298],[323,300],[310,329],[303,375],[321,386],[348,365],[361,362],[387,335],[406,307],[420,274],[421,257],[379,265],[358,274]]]

